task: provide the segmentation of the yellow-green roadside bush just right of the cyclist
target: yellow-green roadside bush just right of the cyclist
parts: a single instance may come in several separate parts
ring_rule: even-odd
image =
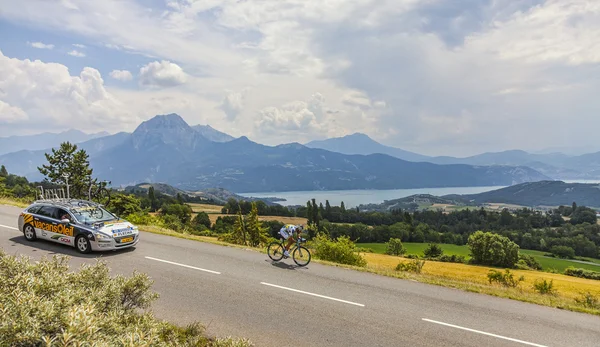
[[[319,233],[310,243],[315,257],[319,259],[355,266],[367,265],[348,236],[340,236],[334,241],[324,233]]]

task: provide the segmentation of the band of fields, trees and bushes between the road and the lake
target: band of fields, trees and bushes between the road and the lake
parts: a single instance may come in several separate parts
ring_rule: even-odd
[[[0,178],[0,196],[32,199],[15,194],[8,176]],[[234,199],[217,206],[152,186],[111,196],[107,207],[143,231],[264,252],[293,218],[306,222],[315,261],[600,315],[600,267],[581,263],[600,264],[600,225],[593,210],[575,203],[548,213],[363,212],[314,199],[294,209]]]

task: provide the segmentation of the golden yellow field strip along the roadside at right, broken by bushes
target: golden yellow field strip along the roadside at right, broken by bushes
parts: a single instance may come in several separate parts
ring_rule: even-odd
[[[394,271],[396,265],[398,265],[399,262],[407,263],[411,261],[410,259],[389,256],[385,254],[361,254],[367,260],[367,266],[369,268],[379,271]],[[504,269],[490,268],[485,266],[434,262],[426,260],[421,273],[424,275],[431,275],[435,277],[444,277],[448,279],[455,279],[458,281],[462,280],[470,283],[489,285],[487,274],[489,270],[492,269],[504,272]],[[520,285],[524,292],[534,293],[535,291],[533,289],[533,284],[535,283],[535,280],[546,279],[548,281],[553,280],[554,288],[562,297],[575,299],[577,297],[580,297],[581,293],[587,291],[596,295],[600,295],[600,285],[598,281],[595,280],[540,271],[512,269],[510,271],[514,273],[515,279],[518,279],[519,277],[521,277],[521,275],[525,277],[525,281],[522,282]]]

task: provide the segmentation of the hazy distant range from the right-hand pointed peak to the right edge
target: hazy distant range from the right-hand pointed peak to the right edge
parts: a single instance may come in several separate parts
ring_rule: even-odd
[[[578,156],[563,153],[532,154],[522,150],[488,152],[464,158],[450,156],[430,157],[385,146],[369,136],[355,133],[322,141],[312,141],[307,147],[321,148],[344,154],[385,153],[390,156],[416,162],[433,164],[508,165],[526,166],[552,179],[598,179],[600,178],[600,152]]]

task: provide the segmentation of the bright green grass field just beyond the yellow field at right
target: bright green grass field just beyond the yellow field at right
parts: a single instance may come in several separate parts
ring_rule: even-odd
[[[375,253],[385,254],[385,244],[384,243],[358,243],[357,247],[362,248],[370,248]],[[423,251],[427,248],[427,243],[403,243],[406,248],[406,254],[418,254],[423,255]],[[446,245],[440,244],[442,250],[444,250],[444,254],[448,255],[463,255],[467,259],[469,257],[469,247],[468,246],[457,246],[457,245]],[[592,264],[582,264],[575,261],[567,260],[567,259],[558,259],[558,258],[550,258],[545,257],[544,252],[540,251],[532,251],[527,249],[520,250],[523,254],[528,254],[533,256],[539,263],[542,265],[544,271],[558,271],[564,272],[565,269],[569,266],[578,267],[582,269],[592,270],[592,271],[600,271],[600,259],[589,259],[586,258],[586,261],[590,261],[593,263],[597,263],[598,266]]]

